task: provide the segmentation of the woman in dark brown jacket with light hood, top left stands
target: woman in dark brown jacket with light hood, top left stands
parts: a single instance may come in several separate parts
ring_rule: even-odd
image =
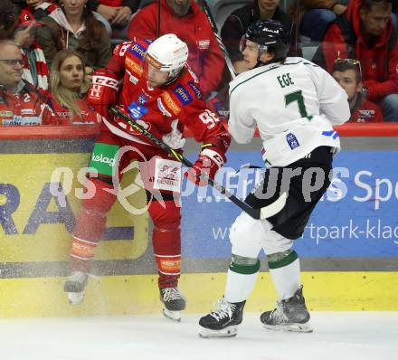
[[[105,27],[86,7],[87,0],[61,0],[61,7],[43,18],[38,42],[47,62],[62,49],[81,52],[86,73],[107,64],[112,55]]]

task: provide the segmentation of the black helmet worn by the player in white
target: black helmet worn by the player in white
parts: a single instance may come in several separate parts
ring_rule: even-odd
[[[241,52],[246,45],[246,40],[259,44],[259,56],[262,52],[274,52],[273,61],[285,59],[289,52],[289,37],[282,24],[276,20],[257,20],[250,24],[242,36]]]

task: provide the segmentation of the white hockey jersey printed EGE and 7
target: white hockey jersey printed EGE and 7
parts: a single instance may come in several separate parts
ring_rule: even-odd
[[[288,166],[320,146],[338,151],[333,126],[349,118],[346,91],[299,57],[242,72],[230,83],[229,131],[247,144],[257,126],[270,166]]]

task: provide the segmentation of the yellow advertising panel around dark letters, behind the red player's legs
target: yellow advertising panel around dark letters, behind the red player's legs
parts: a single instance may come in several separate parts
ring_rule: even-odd
[[[63,223],[41,223],[33,234],[24,234],[27,225],[40,198],[45,184],[54,181],[53,174],[61,174],[60,169],[68,169],[72,176],[68,185],[65,175],[60,176],[62,188],[67,192],[68,204],[77,218],[81,209],[81,201],[76,192],[81,192],[83,185],[78,181],[77,174],[87,166],[90,154],[3,154],[0,156],[3,184],[15,186],[20,197],[20,204],[12,214],[17,234],[5,234],[0,225],[0,262],[30,261],[68,261],[71,250],[71,233]],[[16,168],[15,164],[18,164]],[[40,166],[39,166],[40,165]],[[16,169],[16,170],[15,170]],[[63,170],[65,171],[65,170]],[[81,182],[85,184],[85,172],[81,173]],[[65,174],[68,174],[67,172]],[[57,178],[57,177],[54,177]],[[134,260],[147,251],[148,214],[147,194],[138,175],[137,162],[132,163],[132,170],[123,176],[120,184],[125,191],[124,201],[137,212],[128,213],[120,201],[117,201],[107,216],[107,227],[134,226],[134,238],[100,242],[95,252],[96,260]],[[128,188],[128,192],[126,192]],[[68,191],[70,190],[70,191]],[[7,202],[5,195],[0,194],[0,205]],[[52,197],[47,212],[59,212]],[[1,277],[1,274],[0,274]]]

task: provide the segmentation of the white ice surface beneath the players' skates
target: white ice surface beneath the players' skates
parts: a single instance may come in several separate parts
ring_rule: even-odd
[[[202,339],[199,315],[0,320],[2,360],[397,360],[398,312],[313,312],[312,334],[265,330],[245,314],[238,336]]]

